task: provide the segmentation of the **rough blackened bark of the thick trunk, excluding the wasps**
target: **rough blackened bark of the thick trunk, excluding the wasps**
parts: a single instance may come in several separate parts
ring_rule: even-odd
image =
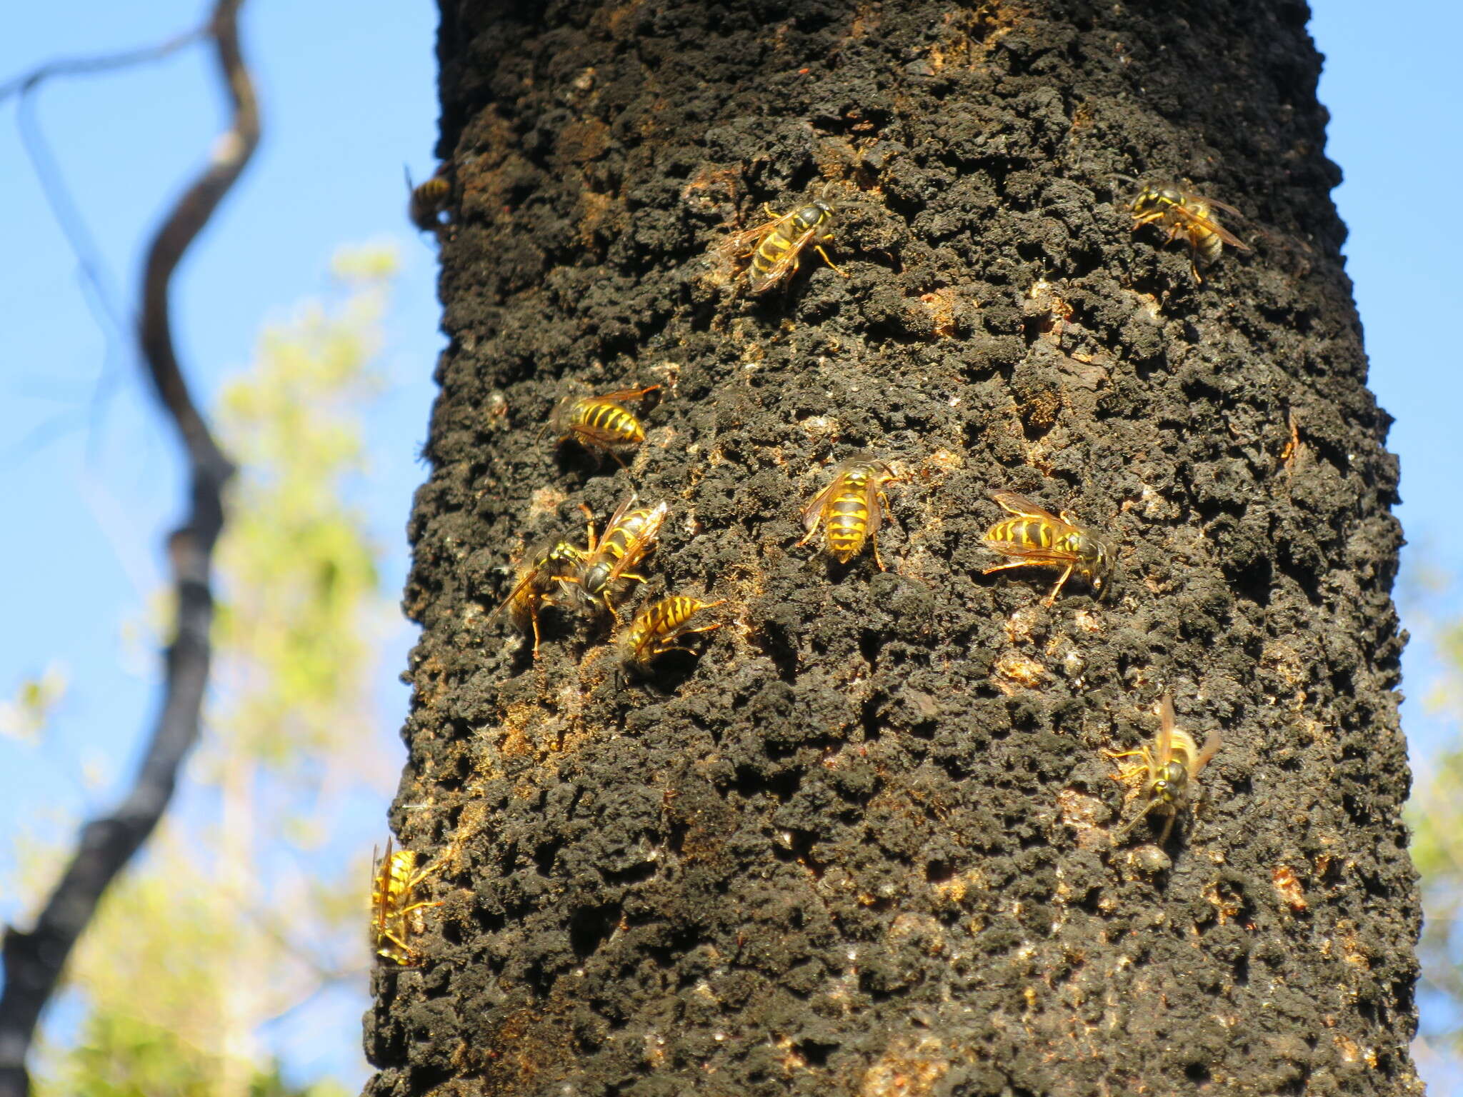
[[[458,848],[370,1093],[1419,1091],[1397,472],[1306,15],[446,0],[392,821]],[[1119,174],[1241,206],[1254,255],[1195,285]],[[850,278],[758,300],[708,257],[825,186]],[[631,470],[535,439],[571,382],[667,386]],[[865,448],[906,477],[885,573],[796,547]],[[672,505],[636,598],[730,626],[622,686],[550,611],[533,663],[500,569],[632,487]],[[1109,531],[1113,597],[983,576],[998,487]],[[1099,750],[1165,690],[1225,746],[1154,870]]]

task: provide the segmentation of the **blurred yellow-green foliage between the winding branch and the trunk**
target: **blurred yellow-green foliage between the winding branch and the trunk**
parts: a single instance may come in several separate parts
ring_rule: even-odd
[[[383,768],[369,685],[394,614],[345,500],[394,271],[379,250],[344,256],[341,300],[269,328],[221,395],[217,430],[241,472],[217,556],[205,740],[178,796],[192,812],[164,821],[80,942],[69,976],[82,1019],[45,1049],[38,1094],[345,1093],[285,1085],[260,1027],[369,962],[363,859],[322,872],[309,856],[342,797]],[[60,696],[31,693],[32,721]]]

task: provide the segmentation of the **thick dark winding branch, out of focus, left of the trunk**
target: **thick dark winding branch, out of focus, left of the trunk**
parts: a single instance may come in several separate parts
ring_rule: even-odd
[[[203,174],[158,230],[142,282],[139,341],[148,376],[187,451],[190,513],[168,540],[177,625],[167,651],[167,682],[146,756],[117,810],[82,828],[66,873],[29,932],[6,930],[4,995],[0,996],[0,1097],[25,1097],[25,1058],[61,977],[66,958],[117,873],[142,847],[167,809],[183,758],[198,739],[208,683],[214,595],[209,572],[224,525],[222,491],[233,464],[214,442],[173,350],[168,287],[184,250],[212,216],[259,143],[259,108],[238,48],[243,0],[218,0],[206,34],[214,39],[233,102],[233,120]],[[78,67],[80,63],[70,63]]]

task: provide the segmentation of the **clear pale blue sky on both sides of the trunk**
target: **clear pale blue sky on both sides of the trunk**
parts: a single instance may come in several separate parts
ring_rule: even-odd
[[[12,6],[0,32],[0,80],[59,56],[159,41],[205,4]],[[1321,99],[1331,110],[1328,154],[1346,181],[1334,199],[1350,227],[1349,274],[1366,328],[1371,385],[1397,420],[1391,449],[1403,462],[1403,519],[1419,562],[1463,575],[1459,410],[1454,361],[1459,259],[1445,218],[1460,173],[1456,42],[1463,15],[1441,3],[1406,19],[1380,18],[1361,0],[1317,0],[1312,35],[1327,54]],[[244,31],[265,111],[265,142],[183,268],[177,294],[181,357],[205,401],[247,363],[263,320],[282,317],[325,288],[341,246],[395,240],[404,260],[389,317],[389,398],[370,423],[373,532],[386,551],[386,589],[405,573],[402,528],[423,468],[437,350],[435,255],[404,221],[402,167],[424,178],[436,140],[436,10],[417,0],[263,3]],[[1425,34],[1419,34],[1425,28]],[[189,50],[157,66],[50,83],[37,98],[44,135],[97,237],[111,278],[127,293],[140,249],[164,205],[196,170],[219,126],[211,60]],[[1448,133],[1440,120],[1453,124]],[[1226,196],[1244,206],[1242,196]],[[1431,216],[1428,215],[1431,214]],[[25,161],[15,101],[0,108],[0,489],[12,513],[0,538],[9,627],[0,630],[0,696],[48,661],[73,689],[51,749],[0,739],[0,834],[23,821],[63,819],[110,803],[110,784],[78,794],[78,769],[95,762],[124,777],[148,727],[154,682],[120,660],[120,630],[162,581],[161,532],[180,506],[173,439],[136,382],[130,348],[94,322],[78,265]],[[1456,604],[1431,607],[1456,617]],[[382,663],[382,728],[395,728],[405,693],[404,629]],[[1434,667],[1422,645],[1406,657],[1407,689],[1421,693]],[[1456,733],[1404,706],[1413,756]],[[389,790],[382,790],[382,804]],[[380,834],[361,821],[360,842]],[[0,879],[13,869],[0,842]],[[0,919],[16,911],[0,895]],[[363,989],[364,993],[364,989]],[[298,1041],[287,1055],[301,1077],[323,1068],[360,1081],[358,1017],[364,998],[326,1006],[339,1046]],[[1445,1066],[1425,1069],[1440,1082]],[[1450,1082],[1457,1081],[1453,1074]],[[1451,1088],[1448,1085],[1440,1088]]]

